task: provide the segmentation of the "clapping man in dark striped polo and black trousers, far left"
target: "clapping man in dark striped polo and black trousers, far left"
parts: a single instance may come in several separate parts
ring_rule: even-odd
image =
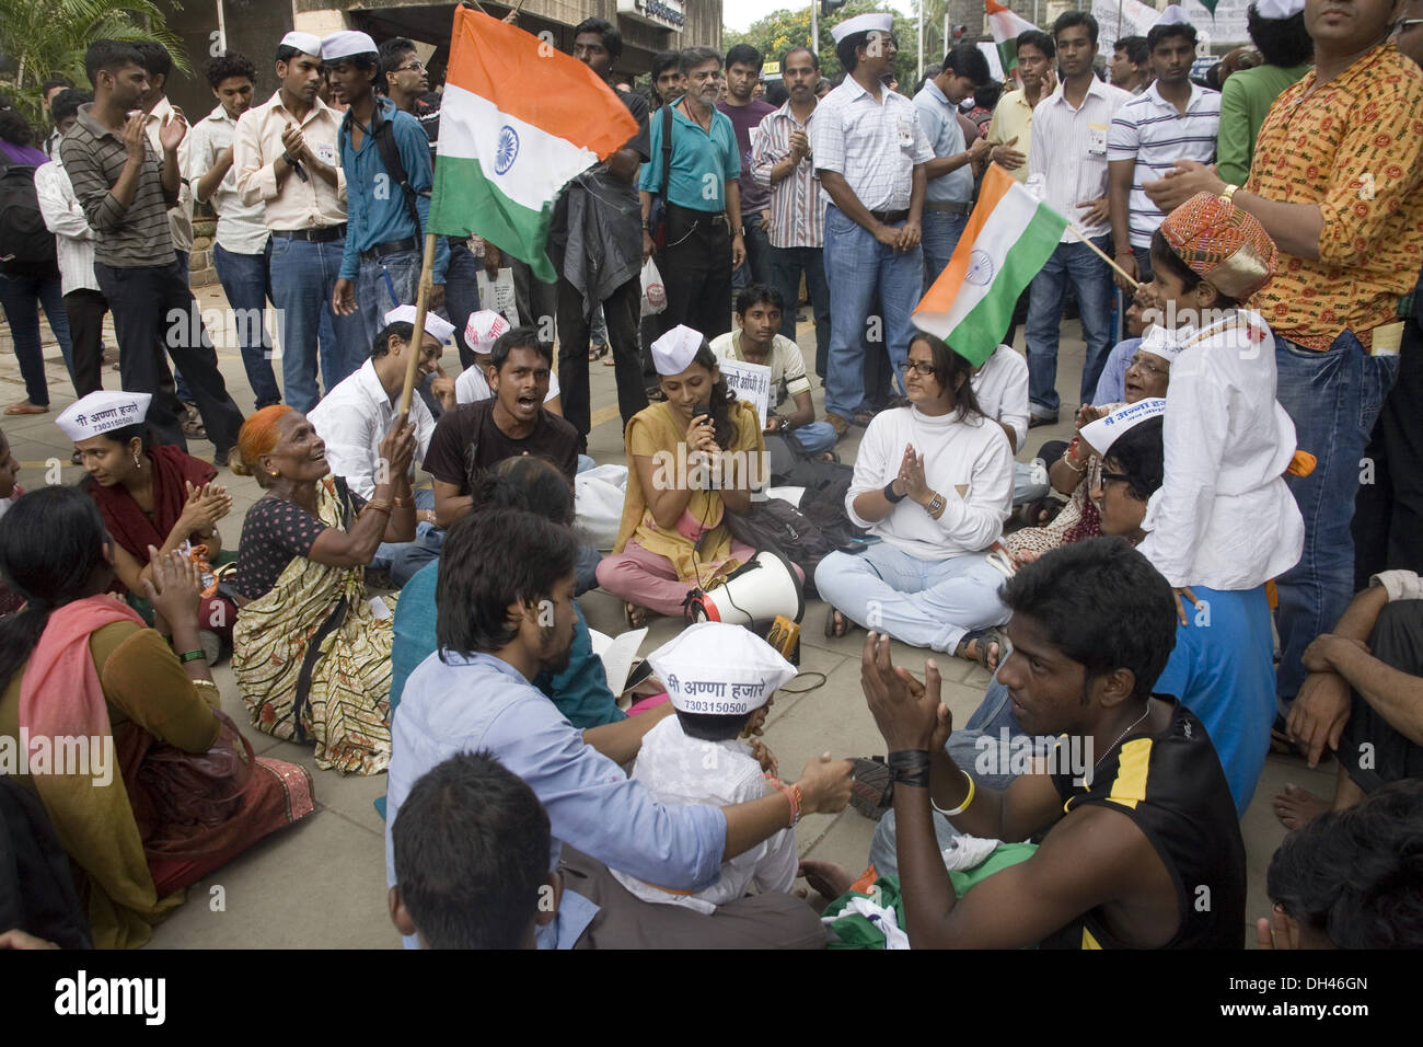
[[[164,118],[159,155],[144,134],[145,114],[138,107],[148,94],[148,73],[132,44],[95,40],[84,56],[84,71],[94,84],[94,101],[80,107],[60,155],[94,228],[94,275],[114,315],[124,390],[154,395],[148,409],[154,443],[188,449],[182,405],[159,387],[166,377],[166,345],[198,402],[215,460],[225,466],[238,443],[242,412],[228,396],[188,288],[188,266],[178,261],[168,229],[168,208],[176,205],[179,191],[178,145],[188,121],[182,113]]]

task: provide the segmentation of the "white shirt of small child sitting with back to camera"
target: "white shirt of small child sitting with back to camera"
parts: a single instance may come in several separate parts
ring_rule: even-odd
[[[638,751],[632,781],[642,782],[652,798],[665,806],[733,806],[761,799],[767,785],[761,765],[746,742],[704,742],[689,738],[676,715],[652,728]],[[693,895],[659,890],[628,873],[612,870],[618,882],[643,902],[680,905],[712,915],[719,905],[744,897],[748,887],[758,892],[788,893],[798,866],[795,830],[781,829],[721,863],[721,879]]]

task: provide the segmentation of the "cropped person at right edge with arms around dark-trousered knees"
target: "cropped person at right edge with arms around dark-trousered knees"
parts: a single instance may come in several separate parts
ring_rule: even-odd
[[[1309,677],[1289,714],[1289,736],[1309,749],[1309,766],[1328,744],[1339,758],[1331,803],[1286,785],[1275,815],[1298,829],[1331,806],[1353,806],[1375,789],[1423,778],[1423,580],[1385,571],[1305,648]]]

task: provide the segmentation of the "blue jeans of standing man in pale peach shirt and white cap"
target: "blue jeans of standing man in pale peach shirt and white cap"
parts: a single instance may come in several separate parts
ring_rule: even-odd
[[[330,390],[370,356],[360,316],[332,312],[332,292],[342,269],[343,239],[312,244],[272,238],[272,305],[277,309],[282,342],[282,390],[286,402],[303,415],[316,406],[317,329],[326,316],[332,339],[322,340],[322,379]]]

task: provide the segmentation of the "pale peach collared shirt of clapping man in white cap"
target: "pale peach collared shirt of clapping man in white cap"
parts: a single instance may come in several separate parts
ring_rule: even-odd
[[[346,172],[336,144],[340,114],[316,98],[302,121],[302,137],[323,164],[336,168],[332,187],[314,171],[303,182],[295,171],[276,182],[276,161],[282,155],[282,131],[296,123],[276,91],[260,105],[253,105],[238,120],[232,135],[232,167],[238,172],[238,192],[248,204],[266,204],[269,229],[317,229],[346,221]]]

